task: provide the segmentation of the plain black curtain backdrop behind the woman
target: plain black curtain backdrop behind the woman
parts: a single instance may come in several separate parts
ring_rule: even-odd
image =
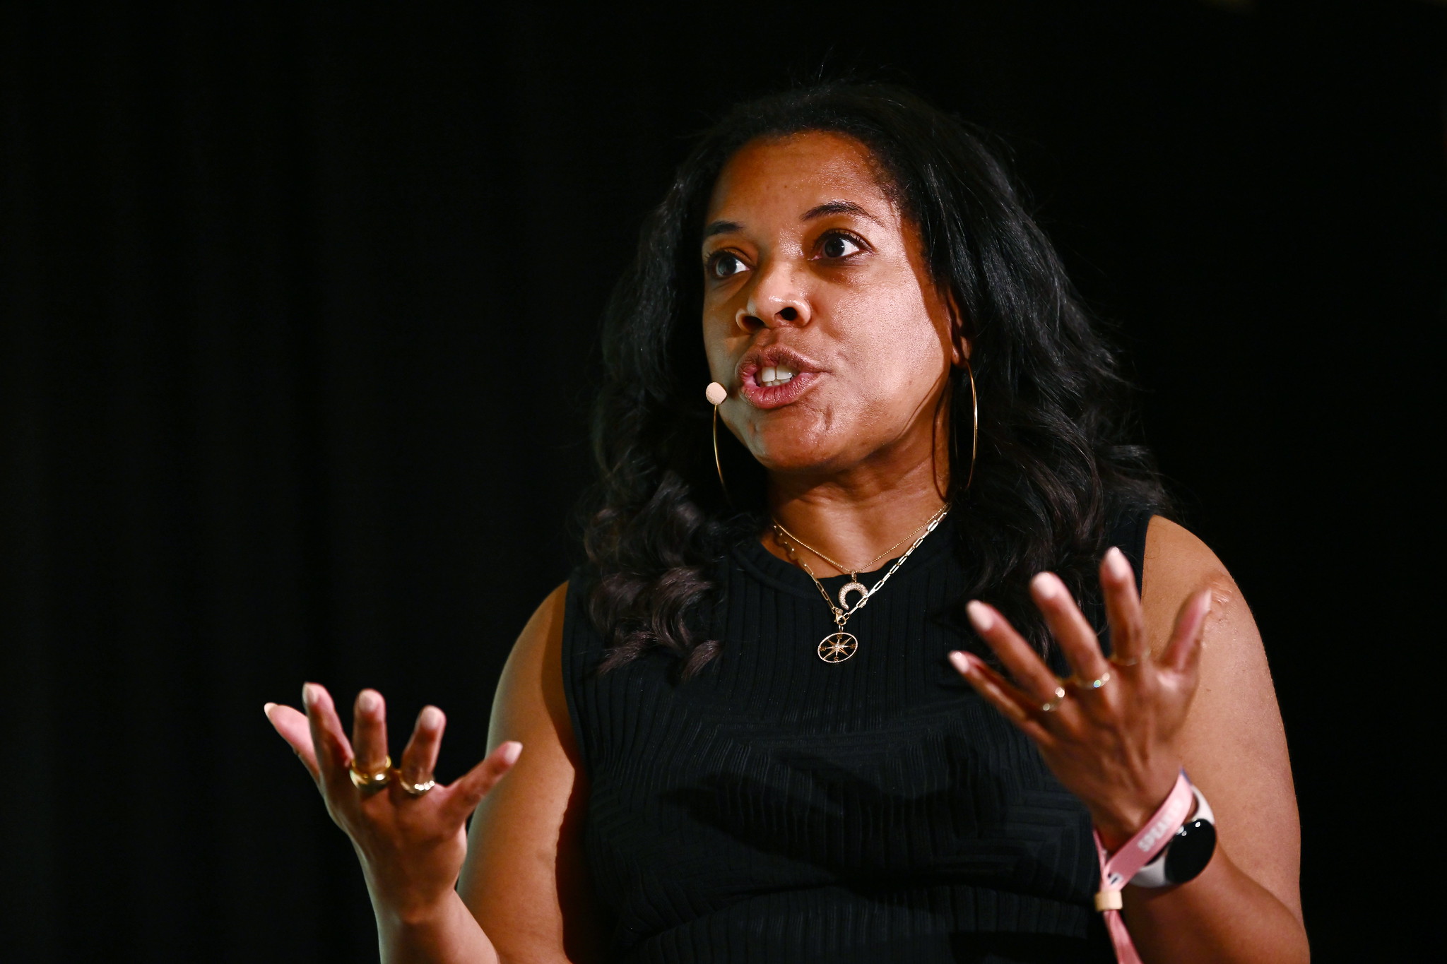
[[[483,753],[577,554],[595,322],[642,214],[724,104],[822,68],[1013,145],[1260,621],[1317,960],[1409,960],[1444,14],[6,4],[0,957],[375,958],[262,702],[373,685],[449,711],[443,776]]]

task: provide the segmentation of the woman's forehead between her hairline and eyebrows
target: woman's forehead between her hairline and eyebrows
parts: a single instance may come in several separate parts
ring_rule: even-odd
[[[719,172],[708,221],[745,212],[797,217],[822,201],[846,199],[878,217],[896,214],[870,149],[846,134],[806,132],[744,145]]]

